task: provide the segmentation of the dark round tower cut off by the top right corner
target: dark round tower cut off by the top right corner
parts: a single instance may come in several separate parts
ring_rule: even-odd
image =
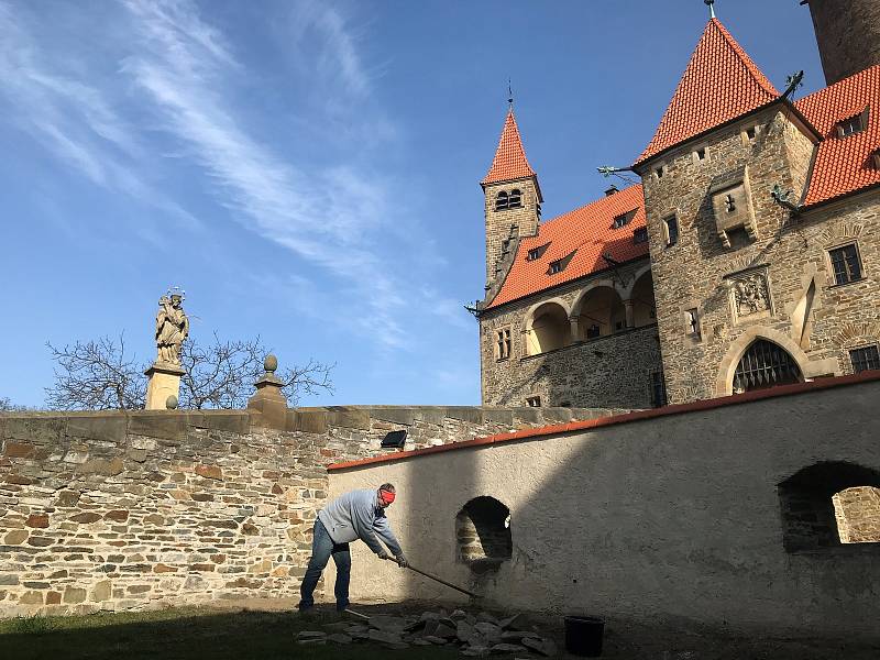
[[[880,64],[880,1],[804,0],[802,4],[810,4],[828,85]]]

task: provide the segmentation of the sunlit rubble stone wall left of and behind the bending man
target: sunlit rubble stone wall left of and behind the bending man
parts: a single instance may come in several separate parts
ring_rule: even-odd
[[[0,415],[0,616],[298,597],[324,465],[607,411],[333,407]]]

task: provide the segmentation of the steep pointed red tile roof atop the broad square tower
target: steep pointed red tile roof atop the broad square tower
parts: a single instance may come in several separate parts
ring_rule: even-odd
[[[718,19],[706,25],[657,133],[639,165],[666,150],[751,112],[779,97]]]

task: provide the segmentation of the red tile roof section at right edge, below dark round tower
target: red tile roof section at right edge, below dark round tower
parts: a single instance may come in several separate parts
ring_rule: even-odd
[[[871,154],[880,148],[880,65],[845,78],[794,103],[822,134],[804,206],[880,184]],[[837,136],[837,123],[870,106],[861,133]]]

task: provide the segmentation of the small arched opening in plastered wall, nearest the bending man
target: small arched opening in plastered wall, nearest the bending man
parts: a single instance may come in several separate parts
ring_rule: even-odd
[[[494,497],[474,497],[455,516],[458,560],[476,572],[497,570],[513,554],[510,509]]]

